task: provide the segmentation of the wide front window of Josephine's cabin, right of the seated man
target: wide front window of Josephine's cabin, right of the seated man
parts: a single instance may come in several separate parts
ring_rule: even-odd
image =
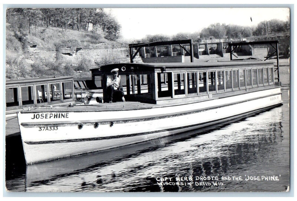
[[[129,88],[130,94],[151,93],[151,76],[146,74],[130,75]]]

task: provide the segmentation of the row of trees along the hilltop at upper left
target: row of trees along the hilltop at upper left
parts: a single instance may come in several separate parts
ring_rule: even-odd
[[[66,32],[69,27],[74,30],[89,31],[91,25],[98,25],[108,40],[121,37],[121,25],[111,14],[102,8],[9,8],[6,10],[7,23],[15,22],[15,18],[27,27],[31,33],[32,26],[60,27]],[[92,27],[93,28],[93,27]]]

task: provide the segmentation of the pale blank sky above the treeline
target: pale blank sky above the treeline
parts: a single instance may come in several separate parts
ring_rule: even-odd
[[[124,39],[194,33],[212,23],[257,26],[265,20],[287,21],[290,16],[289,8],[105,8],[105,11],[111,11],[121,24]]]

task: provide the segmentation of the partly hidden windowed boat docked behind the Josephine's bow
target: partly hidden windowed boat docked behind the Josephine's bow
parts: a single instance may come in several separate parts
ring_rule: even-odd
[[[102,102],[98,90],[90,90],[85,81],[73,80],[70,76],[7,80],[5,92],[6,117],[15,116],[23,108]]]

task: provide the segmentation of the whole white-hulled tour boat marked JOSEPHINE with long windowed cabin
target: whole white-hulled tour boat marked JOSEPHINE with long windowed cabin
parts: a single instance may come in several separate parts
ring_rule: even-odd
[[[108,103],[118,68],[126,102]],[[118,63],[91,69],[103,103],[17,112],[26,164],[207,127],[282,104],[271,61]]]

